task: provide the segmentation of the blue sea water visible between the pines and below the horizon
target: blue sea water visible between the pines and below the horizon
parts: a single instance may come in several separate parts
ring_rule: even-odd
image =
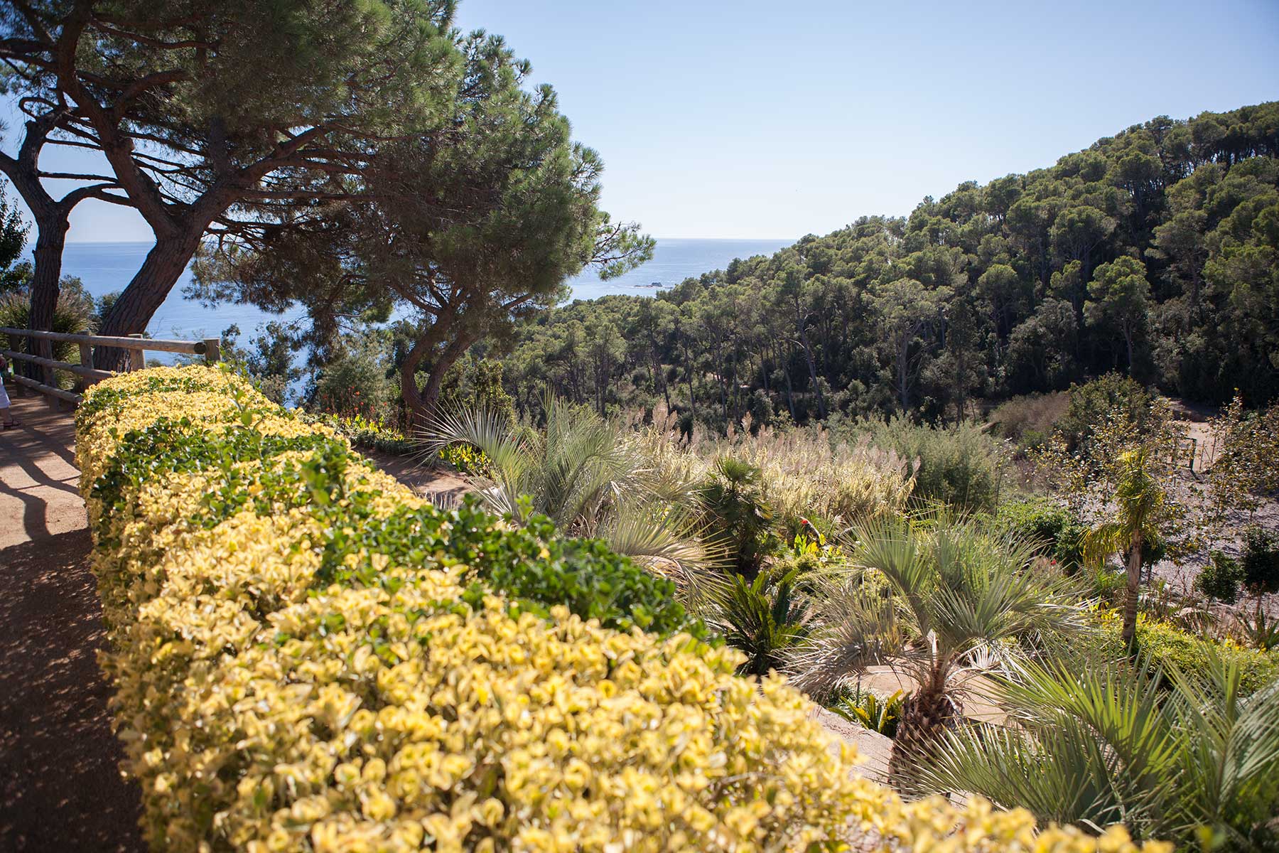
[[[671,286],[689,276],[724,269],[733,258],[771,254],[793,242],[663,239],[657,240],[648,263],[609,281],[601,281],[593,272],[585,272],[572,279],[569,286],[574,299],[595,299],[610,293],[652,295],[656,288],[646,285],[654,281]],[[63,274],[79,276],[95,297],[123,290],[150,248],[150,243],[68,243],[63,252]],[[189,281],[189,274],[183,275],[151,318],[147,331],[152,338],[212,338],[231,324],[249,335],[258,325],[281,318],[252,306],[221,304],[206,308],[183,298],[183,289]],[[299,313],[298,309],[290,311],[283,318],[293,320]]]

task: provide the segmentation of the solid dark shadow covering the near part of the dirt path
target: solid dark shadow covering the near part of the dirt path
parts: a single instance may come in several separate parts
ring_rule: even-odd
[[[145,850],[120,778],[105,642],[77,529],[0,550],[0,850]]]

